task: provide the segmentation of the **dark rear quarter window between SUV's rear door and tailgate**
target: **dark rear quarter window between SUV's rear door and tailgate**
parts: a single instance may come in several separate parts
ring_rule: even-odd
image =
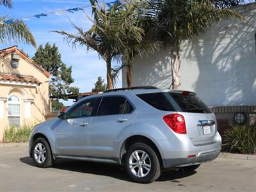
[[[137,96],[156,109],[162,111],[175,111],[172,104],[170,104],[170,101],[164,96],[163,93],[147,93]]]

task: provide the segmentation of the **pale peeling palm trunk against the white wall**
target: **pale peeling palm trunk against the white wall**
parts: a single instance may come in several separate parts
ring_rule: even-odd
[[[177,90],[180,86],[180,56],[179,52],[171,51],[172,84],[170,88]]]

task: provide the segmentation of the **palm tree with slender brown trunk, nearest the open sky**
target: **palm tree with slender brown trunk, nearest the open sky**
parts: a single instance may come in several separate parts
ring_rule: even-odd
[[[116,3],[107,8],[104,3],[100,6],[97,0],[90,0],[93,10],[93,25],[88,31],[83,31],[72,23],[77,30],[77,35],[68,33],[66,31],[53,31],[59,33],[67,39],[67,42],[74,47],[76,44],[85,45],[89,51],[97,51],[100,58],[106,61],[107,67],[107,88],[113,88],[113,77],[111,76],[111,61],[118,54],[117,46],[120,46],[120,6],[122,4]],[[89,18],[90,19],[90,18]]]

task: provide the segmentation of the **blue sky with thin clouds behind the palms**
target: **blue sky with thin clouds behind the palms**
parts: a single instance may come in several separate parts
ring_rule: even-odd
[[[20,19],[40,13],[55,12],[88,5],[90,5],[88,0],[13,0],[12,9],[0,6],[0,15],[9,15],[14,19]],[[90,7],[85,8],[85,12],[90,16],[92,15]],[[49,42],[51,44],[55,43],[59,47],[62,61],[68,66],[72,66],[72,77],[75,79],[72,86],[79,87],[80,92],[90,92],[94,83],[97,81],[97,77],[102,76],[103,79],[106,79],[106,64],[104,60],[99,59],[97,52],[87,52],[85,47],[79,46],[73,49],[72,45],[66,44],[63,36],[49,32],[52,30],[63,30],[76,33],[76,30],[70,25],[68,18],[84,30],[92,26],[92,22],[86,18],[83,12],[63,13],[62,15],[53,14],[47,17],[40,17],[40,19],[33,17],[29,18],[29,20],[24,20],[24,22],[35,36],[37,45]],[[23,49],[31,57],[36,51],[32,45],[17,44],[16,42],[0,44],[0,49],[12,45],[18,45],[19,49]],[[119,81],[116,84],[117,87],[122,86],[121,79],[120,74]],[[65,103],[69,104],[70,102]]]

